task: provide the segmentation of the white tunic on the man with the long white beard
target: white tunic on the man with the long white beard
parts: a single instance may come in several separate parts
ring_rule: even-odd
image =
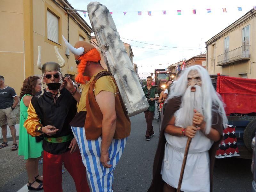
[[[174,116],[180,113],[180,109]],[[179,124],[175,126],[182,127]],[[174,188],[178,188],[180,171],[188,137],[172,136],[164,133],[166,144],[162,163],[162,179]],[[208,150],[213,141],[201,131],[197,131],[192,139],[184,170],[181,190],[186,192],[210,191],[210,158]]]

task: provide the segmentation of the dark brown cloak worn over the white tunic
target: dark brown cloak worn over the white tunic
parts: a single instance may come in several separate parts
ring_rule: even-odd
[[[151,185],[148,189],[148,192],[162,192],[164,186],[164,180],[162,179],[162,175],[160,174],[162,169],[162,162],[164,158],[164,146],[166,143],[166,139],[164,136],[164,129],[167,126],[168,122],[174,115],[174,113],[180,108],[181,105],[181,97],[172,98],[168,100],[166,106],[164,106],[164,119],[161,127],[161,132],[158,140],[158,147],[156,149],[156,155],[154,159],[153,165],[153,179]],[[184,117],[186,118],[186,117]],[[192,121],[192,120],[191,120]],[[220,135],[222,136],[223,124],[222,118],[217,112],[212,112],[212,128],[216,129]],[[212,192],[212,177],[213,177],[213,166],[215,161],[215,153],[219,146],[220,141],[214,142],[212,147],[209,150],[210,156],[210,191]],[[180,177],[180,173],[177,173],[177,177]]]

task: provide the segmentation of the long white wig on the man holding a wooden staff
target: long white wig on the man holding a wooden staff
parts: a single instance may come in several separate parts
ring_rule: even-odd
[[[202,80],[202,86],[201,86],[201,93],[202,94],[198,94],[195,93],[195,97],[197,98],[197,102],[198,102],[198,97],[200,97],[201,100],[201,110],[199,112],[201,112],[204,116],[204,121],[206,122],[206,126],[205,126],[205,134],[209,134],[210,130],[211,130],[211,126],[212,126],[212,112],[217,112],[223,119],[223,124],[228,124],[228,119],[223,107],[223,102],[221,101],[221,97],[220,95],[215,91],[212,82],[211,82],[211,78],[207,72],[207,70],[199,65],[195,65],[195,66],[191,66],[186,68],[184,71],[182,71],[180,78],[171,86],[171,91],[170,94],[168,95],[168,99],[172,99],[174,97],[182,97],[182,99],[184,99],[184,96],[187,95],[187,90],[188,90],[188,74],[191,70],[196,70],[198,71],[198,73],[201,76],[201,80]],[[190,89],[190,87],[189,87]],[[200,89],[196,88],[196,92],[200,91]],[[187,91],[187,92],[186,92]],[[181,100],[182,100],[181,99]],[[190,99],[190,101],[192,101]],[[181,108],[182,107],[186,107],[184,106],[185,102],[182,102],[183,105],[181,104]],[[191,102],[192,104],[192,102]],[[186,102],[186,105],[189,105],[189,102]],[[194,103],[195,105],[195,103]],[[196,104],[198,106],[198,103]],[[192,106],[193,108],[193,106]],[[187,113],[184,114],[184,113]],[[188,113],[191,114],[191,111],[185,111],[183,114],[183,121],[189,121],[189,125],[192,125],[192,119],[188,119],[191,117],[191,115],[188,116]],[[193,114],[193,112],[192,112]],[[192,115],[193,117],[193,115]],[[214,123],[214,122],[213,122]]]

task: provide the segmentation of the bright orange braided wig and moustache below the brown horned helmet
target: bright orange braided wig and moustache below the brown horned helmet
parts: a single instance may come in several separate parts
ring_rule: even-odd
[[[99,62],[100,53],[96,48],[93,48],[81,55],[77,60],[80,60],[80,63],[78,64],[78,75],[76,76],[75,80],[77,83],[85,84],[86,81],[90,81],[90,77],[84,76],[84,70],[86,68],[87,61]]]

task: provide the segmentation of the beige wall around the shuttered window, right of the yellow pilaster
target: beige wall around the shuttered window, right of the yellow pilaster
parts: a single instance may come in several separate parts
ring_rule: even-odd
[[[36,67],[37,63],[37,57],[38,57],[38,46],[40,45],[42,47],[42,57],[41,61],[42,63],[48,62],[48,61],[55,61],[57,62],[57,57],[54,51],[54,43],[45,41],[45,31],[46,31],[46,25],[45,25],[45,19],[47,17],[45,12],[45,6],[48,7],[53,11],[56,11],[58,14],[61,15],[61,32],[62,35],[65,36],[66,39],[68,39],[68,15],[66,15],[66,12],[59,6],[57,6],[53,1],[51,0],[38,0],[33,2],[33,10],[36,10],[33,12],[33,25],[34,25],[34,73],[35,74],[41,74],[41,71]],[[52,10],[51,10],[52,11]],[[90,32],[88,31],[90,34]],[[71,45],[74,45],[77,41],[79,41],[79,34],[85,38],[85,41],[90,42],[89,38],[87,37],[86,33],[75,23],[75,21],[69,17],[69,43]],[[59,42],[60,45],[58,47],[59,52],[61,56],[65,59],[66,65],[62,68],[62,74],[72,74],[74,75],[76,71],[76,62],[74,59],[74,55],[69,52],[70,56],[69,59],[65,55],[65,49],[66,45],[64,41],[61,38],[61,41]]]

